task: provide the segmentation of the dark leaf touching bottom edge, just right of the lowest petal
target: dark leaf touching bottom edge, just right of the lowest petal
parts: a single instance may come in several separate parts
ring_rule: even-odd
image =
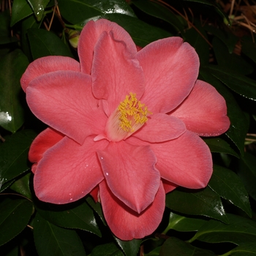
[[[168,238],[162,245],[159,253],[160,256],[181,256],[181,255],[193,255],[193,256],[207,256],[215,255],[214,252],[208,251],[206,249],[200,249],[192,246],[178,238],[171,237]]]

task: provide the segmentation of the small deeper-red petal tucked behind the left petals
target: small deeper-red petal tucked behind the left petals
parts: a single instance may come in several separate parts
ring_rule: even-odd
[[[56,130],[52,128],[47,128],[42,131],[37,138],[31,144],[29,149],[29,161],[30,162],[39,162],[42,159],[42,155],[47,151],[49,148],[54,146],[58,143],[61,139],[64,138],[60,132],[56,132]],[[35,172],[35,168],[32,167],[32,172]]]

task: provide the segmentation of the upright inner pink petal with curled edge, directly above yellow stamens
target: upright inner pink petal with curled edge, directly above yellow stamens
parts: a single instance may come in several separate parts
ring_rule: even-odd
[[[91,69],[92,91],[97,99],[107,99],[110,113],[130,92],[140,99],[144,93],[143,70],[130,50],[113,31],[102,32],[94,48]]]

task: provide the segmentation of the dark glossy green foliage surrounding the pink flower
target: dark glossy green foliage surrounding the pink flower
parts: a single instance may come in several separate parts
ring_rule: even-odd
[[[2,0],[0,8],[1,255],[256,255],[255,1]],[[98,18],[141,47],[189,42],[199,78],[225,97],[231,121],[225,135],[203,138],[214,159],[208,187],[167,194],[162,223],[144,239],[113,236],[91,197],[55,206],[34,196],[27,155],[45,124],[27,107],[20,77],[42,56],[78,59],[79,31]]]

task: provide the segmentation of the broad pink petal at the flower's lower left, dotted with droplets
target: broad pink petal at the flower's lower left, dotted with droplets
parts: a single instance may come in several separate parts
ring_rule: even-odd
[[[34,174],[34,191],[48,203],[70,203],[84,197],[104,178],[97,159],[97,149],[107,140],[86,138],[83,145],[65,137],[48,149]]]

